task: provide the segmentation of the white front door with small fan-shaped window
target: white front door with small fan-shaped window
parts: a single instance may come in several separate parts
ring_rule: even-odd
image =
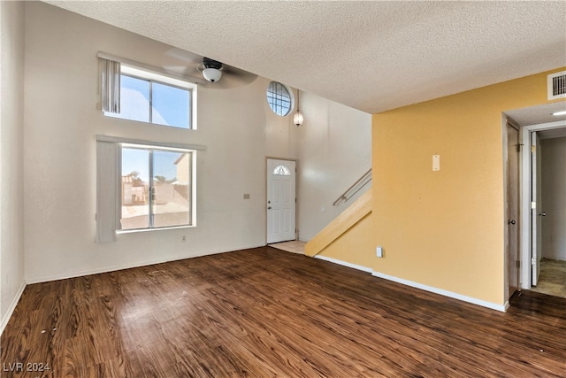
[[[267,159],[267,243],[295,239],[295,162]]]

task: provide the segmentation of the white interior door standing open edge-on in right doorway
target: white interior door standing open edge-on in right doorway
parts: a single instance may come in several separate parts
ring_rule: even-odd
[[[532,199],[531,199],[531,229],[532,229],[532,244],[531,244],[531,264],[532,264],[532,286],[537,286],[540,274],[540,258],[542,257],[542,248],[540,237],[540,230],[542,229],[542,221],[540,215],[542,214],[542,190],[540,180],[540,143],[539,135],[536,132],[531,133],[531,182],[532,182]]]

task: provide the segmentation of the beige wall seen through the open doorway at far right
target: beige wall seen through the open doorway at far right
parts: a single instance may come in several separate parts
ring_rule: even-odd
[[[540,141],[542,257],[566,260],[566,137]]]

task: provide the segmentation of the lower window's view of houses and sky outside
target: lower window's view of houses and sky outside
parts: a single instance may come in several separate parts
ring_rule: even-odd
[[[122,230],[192,226],[194,154],[122,145]]]

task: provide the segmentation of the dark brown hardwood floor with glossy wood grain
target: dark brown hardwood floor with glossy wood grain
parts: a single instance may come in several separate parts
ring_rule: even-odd
[[[563,376],[566,299],[513,299],[495,312],[270,247],[236,251],[27,286],[1,375]]]

